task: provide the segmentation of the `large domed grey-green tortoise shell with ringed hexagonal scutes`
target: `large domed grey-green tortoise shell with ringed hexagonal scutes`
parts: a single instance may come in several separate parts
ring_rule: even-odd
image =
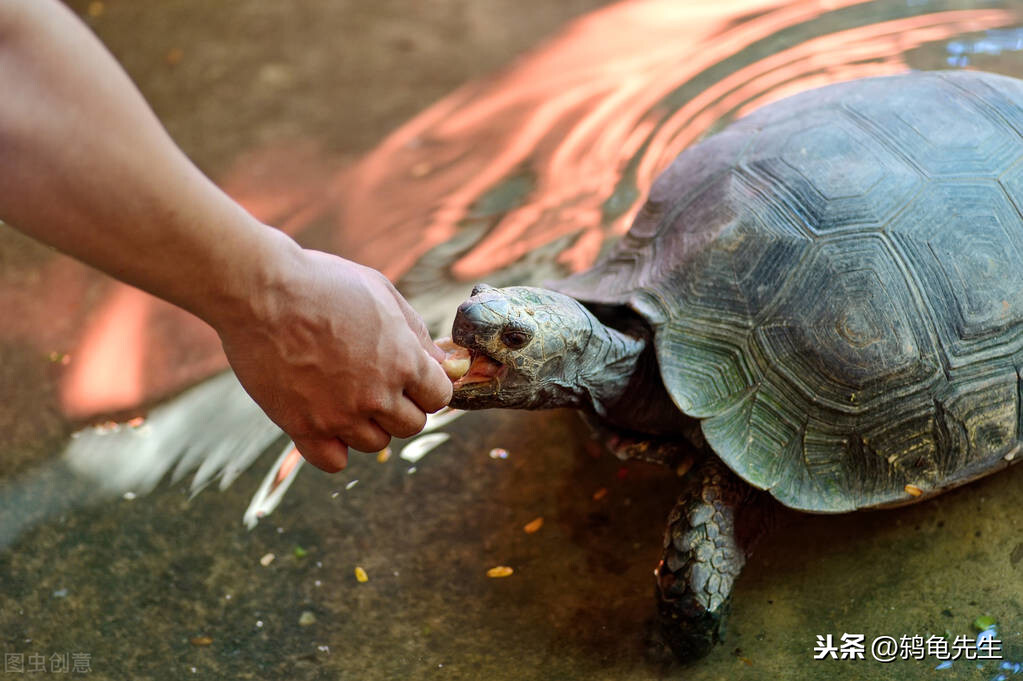
[[[831,85],[687,149],[555,287],[625,305],[737,473],[836,512],[1011,461],[1023,370],[1023,82]]]

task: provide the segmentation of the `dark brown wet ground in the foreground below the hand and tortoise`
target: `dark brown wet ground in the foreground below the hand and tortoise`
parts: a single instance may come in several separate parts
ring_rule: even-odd
[[[110,679],[972,679],[993,665],[814,662],[812,647],[973,636],[990,615],[1023,657],[1020,469],[902,510],[787,515],[739,583],[726,643],[683,668],[651,629],[673,474],[594,458],[571,413],[448,429],[412,473],[371,455],[303,470],[251,533],[240,511],[266,457],[224,493],[165,485],[54,517],[0,556],[5,647],[85,651]],[[66,493],[55,478],[44,498]],[[495,565],[515,573],[488,579]]]

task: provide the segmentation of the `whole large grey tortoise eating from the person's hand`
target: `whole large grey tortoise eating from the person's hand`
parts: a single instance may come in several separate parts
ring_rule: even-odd
[[[619,456],[692,457],[655,590],[675,654],[706,654],[777,502],[897,506],[1015,460],[1021,135],[1023,82],[975,72],[767,104],[684,150],[591,269],[477,285],[451,405],[575,407]]]

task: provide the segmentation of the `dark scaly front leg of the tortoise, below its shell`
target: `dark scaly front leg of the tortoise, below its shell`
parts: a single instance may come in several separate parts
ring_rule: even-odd
[[[658,616],[680,660],[702,657],[723,636],[731,588],[774,504],[708,454],[686,476],[668,517],[657,568]]]

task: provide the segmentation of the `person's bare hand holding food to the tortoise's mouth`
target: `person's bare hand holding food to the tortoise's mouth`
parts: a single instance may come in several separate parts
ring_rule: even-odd
[[[241,384],[313,465],[422,429],[451,381],[419,315],[380,272],[288,248],[251,309],[210,320]]]

